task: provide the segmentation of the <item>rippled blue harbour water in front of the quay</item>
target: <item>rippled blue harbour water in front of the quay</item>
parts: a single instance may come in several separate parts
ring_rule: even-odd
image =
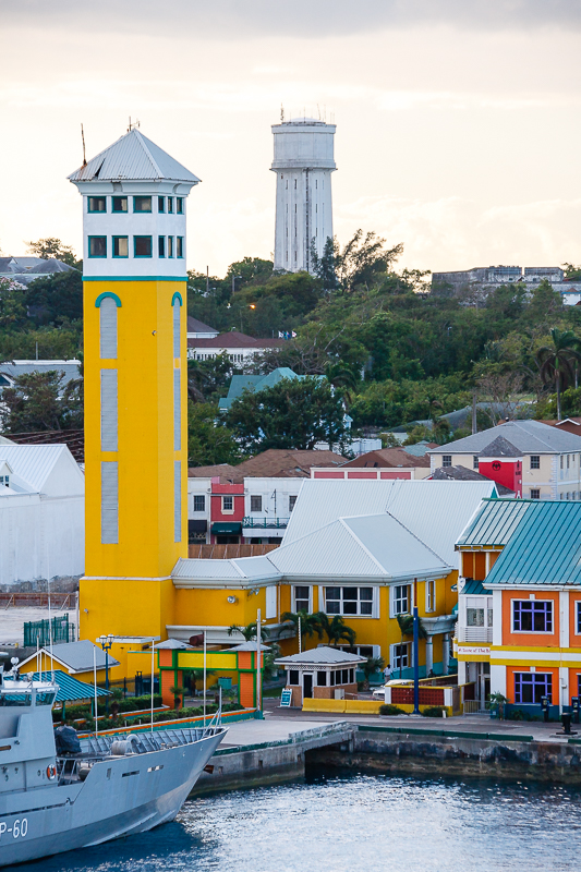
[[[172,824],[26,872],[562,872],[581,789],[334,775],[187,802]],[[23,867],[20,867],[24,870]]]

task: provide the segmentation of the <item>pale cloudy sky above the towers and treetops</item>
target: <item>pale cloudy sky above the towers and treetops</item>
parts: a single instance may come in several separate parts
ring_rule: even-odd
[[[0,250],[81,253],[128,121],[195,172],[187,267],[274,249],[270,125],[337,124],[334,227],[400,266],[581,263],[579,0],[0,0]]]

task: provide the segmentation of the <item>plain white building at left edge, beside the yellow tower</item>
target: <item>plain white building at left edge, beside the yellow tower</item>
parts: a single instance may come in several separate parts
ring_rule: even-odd
[[[85,479],[68,447],[0,444],[0,584],[84,566]]]

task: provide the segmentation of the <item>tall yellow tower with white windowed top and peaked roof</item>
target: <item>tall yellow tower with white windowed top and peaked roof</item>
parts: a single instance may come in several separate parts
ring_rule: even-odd
[[[84,235],[81,638],[165,639],[187,556],[185,203],[199,179],[136,129],[69,179]]]

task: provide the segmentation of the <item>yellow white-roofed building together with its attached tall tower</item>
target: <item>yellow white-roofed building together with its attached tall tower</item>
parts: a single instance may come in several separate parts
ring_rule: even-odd
[[[453,545],[494,484],[305,481],[282,547],[187,559],[185,205],[198,179],[135,129],[70,179],[84,225],[81,638],[118,637],[111,678],[148,673],[146,652],[130,656],[132,637],[205,631],[209,644],[235,644],[228,628],[258,608],[285,654],[298,641],[283,613],[324,611],[355,630],[359,653],[406,676],[411,640],[397,618],[414,604],[428,634],[421,674],[447,671]]]

